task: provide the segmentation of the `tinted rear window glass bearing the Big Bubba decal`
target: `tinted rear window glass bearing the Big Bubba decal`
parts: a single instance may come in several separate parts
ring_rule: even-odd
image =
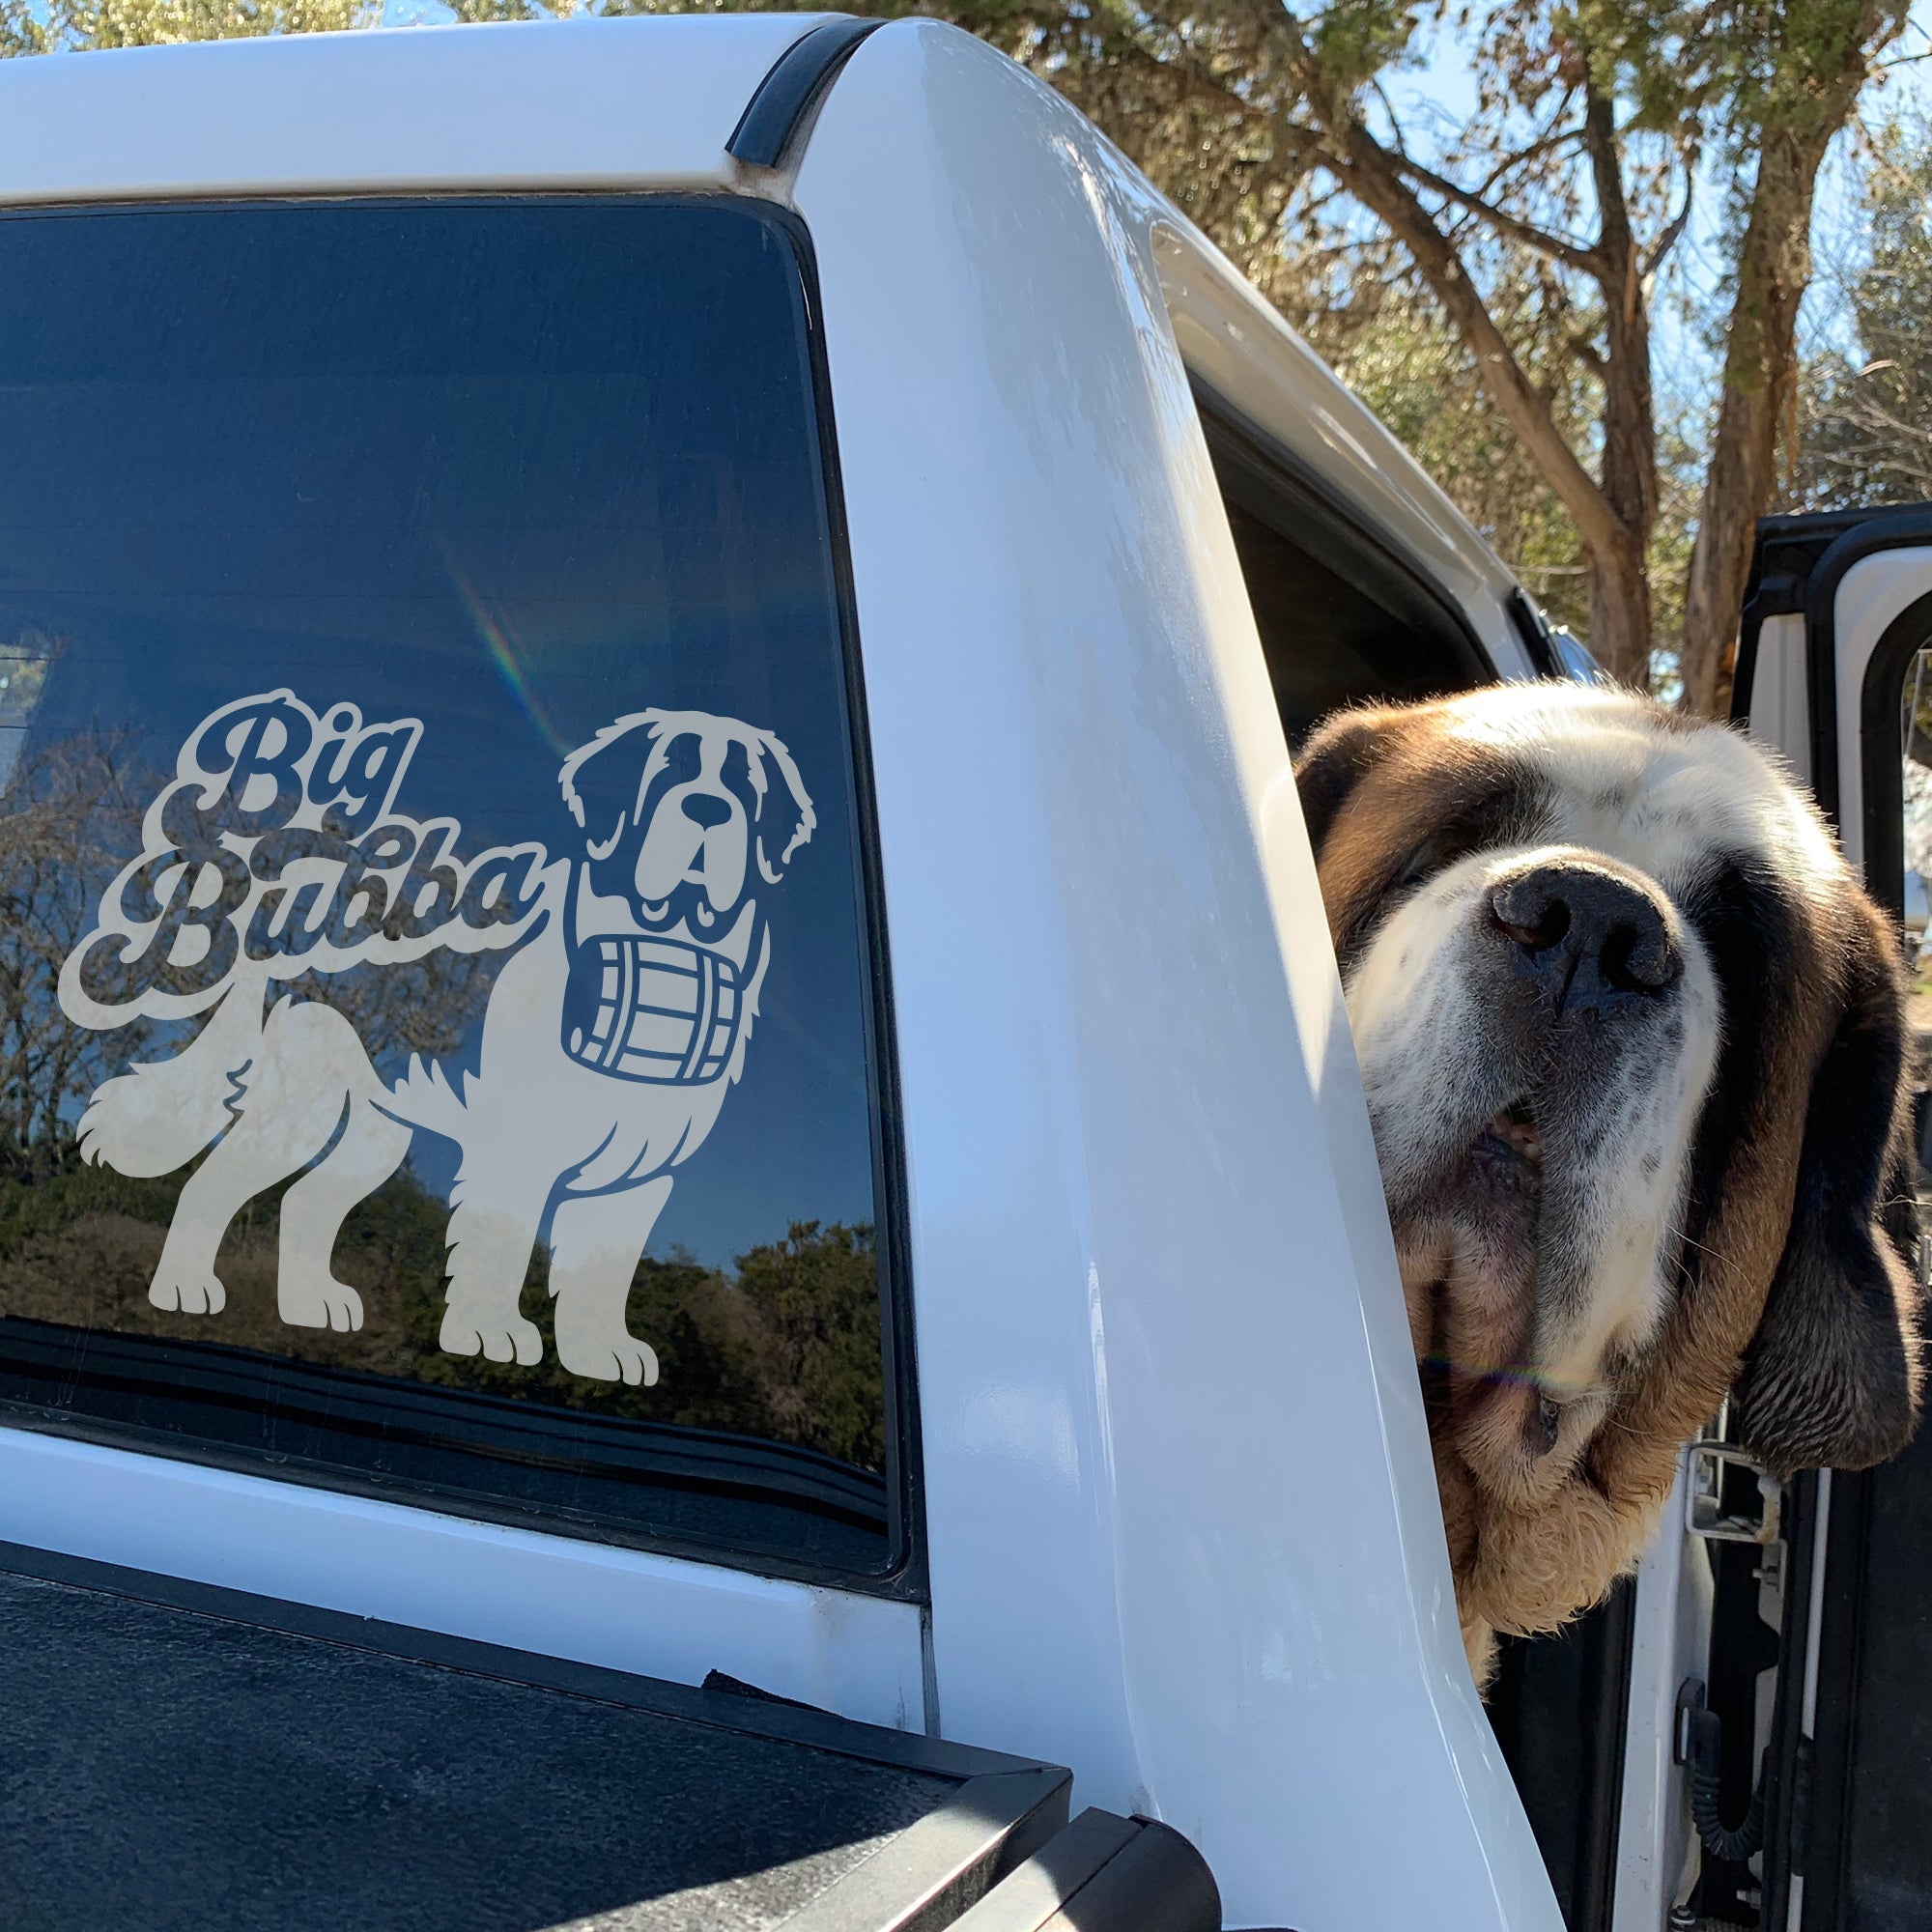
[[[889,1569],[782,218],[4,220],[0,448],[14,1420]]]

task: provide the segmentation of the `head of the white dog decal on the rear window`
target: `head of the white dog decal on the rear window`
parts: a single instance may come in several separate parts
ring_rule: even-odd
[[[699,945],[732,927],[757,883],[777,885],[817,815],[790,752],[707,711],[636,711],[558,775],[583,829],[587,883],[638,929],[682,925]]]

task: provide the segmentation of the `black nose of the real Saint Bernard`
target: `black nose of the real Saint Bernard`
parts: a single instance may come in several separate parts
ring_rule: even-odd
[[[1490,895],[1490,920],[1557,1012],[1662,993],[1683,972],[1663,906],[1582,860],[1534,866]]]

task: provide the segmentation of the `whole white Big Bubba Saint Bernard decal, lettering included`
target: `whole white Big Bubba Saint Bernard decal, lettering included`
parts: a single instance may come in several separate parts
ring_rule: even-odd
[[[518,1298],[551,1221],[556,1354],[576,1376],[657,1381],[624,1323],[672,1169],[744,1070],[771,960],[763,895],[813,831],[769,732],[705,711],[634,711],[558,773],[582,850],[458,856],[454,819],[394,810],[419,719],[365,723],[278,690],[189,734],[149,806],[141,854],[100,896],[60,974],[77,1026],[201,1020],[174,1057],[104,1080],[81,1151],[182,1188],[149,1300],[218,1314],[236,1213],[282,1196],[276,1302],[299,1327],[361,1327],[330,1256],[350,1209],[417,1128],[462,1150],[440,1345],[535,1364]],[[373,1066],[354,1024],[280,991],[334,974],[500,951],[481,1063]]]

